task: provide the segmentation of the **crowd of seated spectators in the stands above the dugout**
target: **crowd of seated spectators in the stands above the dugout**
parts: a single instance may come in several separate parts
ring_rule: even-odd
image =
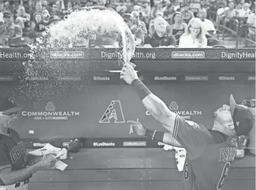
[[[208,2],[208,5],[201,2],[195,4],[179,0],[3,1],[0,5],[0,44],[5,47],[15,44],[15,41],[20,42],[20,39],[25,39],[24,44],[32,43],[33,39],[41,35],[47,27],[84,6],[105,6],[117,11],[131,29],[138,48],[207,48],[211,46],[208,43],[209,39],[214,38],[218,32],[216,23],[221,22],[232,28],[234,19],[253,26],[246,32],[248,37],[255,41],[255,2],[216,0]],[[214,14],[211,14],[212,12]]]

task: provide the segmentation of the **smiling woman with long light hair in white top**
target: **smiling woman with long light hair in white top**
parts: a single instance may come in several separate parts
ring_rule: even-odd
[[[203,23],[198,18],[188,22],[185,33],[180,37],[179,48],[207,48],[207,38]]]

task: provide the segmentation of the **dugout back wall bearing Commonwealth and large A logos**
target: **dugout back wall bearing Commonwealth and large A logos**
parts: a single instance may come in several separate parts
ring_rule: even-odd
[[[252,84],[168,83],[148,84],[148,87],[170,110],[185,119],[205,125],[207,129],[213,126],[214,111],[228,104],[231,94],[237,103],[255,98],[255,85]],[[15,87],[0,85],[0,88],[6,95],[13,95]],[[115,142],[116,138],[138,138],[135,134],[129,134],[130,126],[127,123],[137,118],[149,129],[165,131],[128,85],[89,85],[71,97],[53,95],[38,103],[29,103],[29,98],[22,97],[18,92],[14,97],[23,108],[13,128],[20,137],[31,139],[33,144],[37,143],[35,139],[83,137],[92,138],[88,141],[89,147],[120,147],[120,144],[123,147],[148,147],[144,143],[146,141],[141,139]],[[40,147],[40,144],[35,146]]]

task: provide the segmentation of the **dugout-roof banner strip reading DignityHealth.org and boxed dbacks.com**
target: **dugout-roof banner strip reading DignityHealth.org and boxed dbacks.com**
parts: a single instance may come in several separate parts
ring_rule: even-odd
[[[164,51],[163,51],[164,50]],[[120,59],[121,49],[115,48],[72,48],[63,50],[48,50],[40,52],[40,57],[51,59],[82,59],[82,60],[115,60]],[[136,48],[133,60],[136,59],[226,59],[226,60],[255,60],[255,49],[219,49],[219,48]],[[1,49],[2,61],[28,60],[32,58],[29,49]],[[38,58],[35,56],[35,58]]]

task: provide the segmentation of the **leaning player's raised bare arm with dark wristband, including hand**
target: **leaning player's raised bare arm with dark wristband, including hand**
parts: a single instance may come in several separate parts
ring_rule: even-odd
[[[151,113],[157,121],[166,126],[166,129],[170,133],[173,133],[175,117],[177,114],[170,111],[164,101],[156,97],[156,95],[154,95],[146,85],[139,80],[135,69],[133,69],[130,64],[127,63],[123,66],[120,79],[125,80],[127,84],[133,86],[149,113]]]

